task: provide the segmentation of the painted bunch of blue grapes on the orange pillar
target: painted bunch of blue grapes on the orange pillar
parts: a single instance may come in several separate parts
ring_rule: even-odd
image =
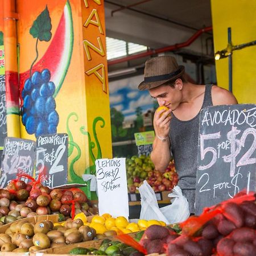
[[[22,90],[22,123],[28,134],[36,137],[57,132],[59,115],[53,98],[55,84],[48,69],[35,71],[24,84]]]

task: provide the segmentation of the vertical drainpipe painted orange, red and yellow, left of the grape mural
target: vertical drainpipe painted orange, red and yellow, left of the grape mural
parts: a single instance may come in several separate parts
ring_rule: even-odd
[[[3,1],[7,135],[10,137],[20,137],[16,19],[15,0]]]

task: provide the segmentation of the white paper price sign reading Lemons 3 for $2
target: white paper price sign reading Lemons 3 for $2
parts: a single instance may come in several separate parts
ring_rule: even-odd
[[[129,216],[125,158],[97,159],[96,177],[99,214]]]

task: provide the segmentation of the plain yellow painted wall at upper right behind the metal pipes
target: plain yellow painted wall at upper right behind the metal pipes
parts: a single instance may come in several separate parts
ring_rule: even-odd
[[[212,0],[214,51],[256,40],[256,1]],[[229,88],[228,58],[216,61],[217,83]],[[233,51],[233,94],[240,104],[256,103],[256,46]]]

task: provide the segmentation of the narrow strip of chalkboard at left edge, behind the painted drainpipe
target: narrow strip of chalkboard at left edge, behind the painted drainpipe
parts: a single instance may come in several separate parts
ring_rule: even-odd
[[[6,93],[5,75],[0,75],[0,146],[3,146],[7,135],[6,127]]]

